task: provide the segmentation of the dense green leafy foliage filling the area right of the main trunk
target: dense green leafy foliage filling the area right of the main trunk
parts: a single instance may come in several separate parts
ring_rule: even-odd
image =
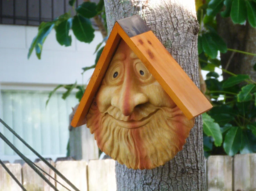
[[[248,75],[236,75],[221,68],[218,52],[225,53],[228,49],[216,30],[217,14],[230,17],[234,24],[244,24],[247,20],[256,27],[256,1],[206,0],[197,9],[198,57],[201,69],[209,71],[206,96],[213,104],[213,109],[203,114],[205,155],[256,152],[256,82]],[[220,81],[215,68],[231,77]],[[256,64],[252,69],[256,69]]]

